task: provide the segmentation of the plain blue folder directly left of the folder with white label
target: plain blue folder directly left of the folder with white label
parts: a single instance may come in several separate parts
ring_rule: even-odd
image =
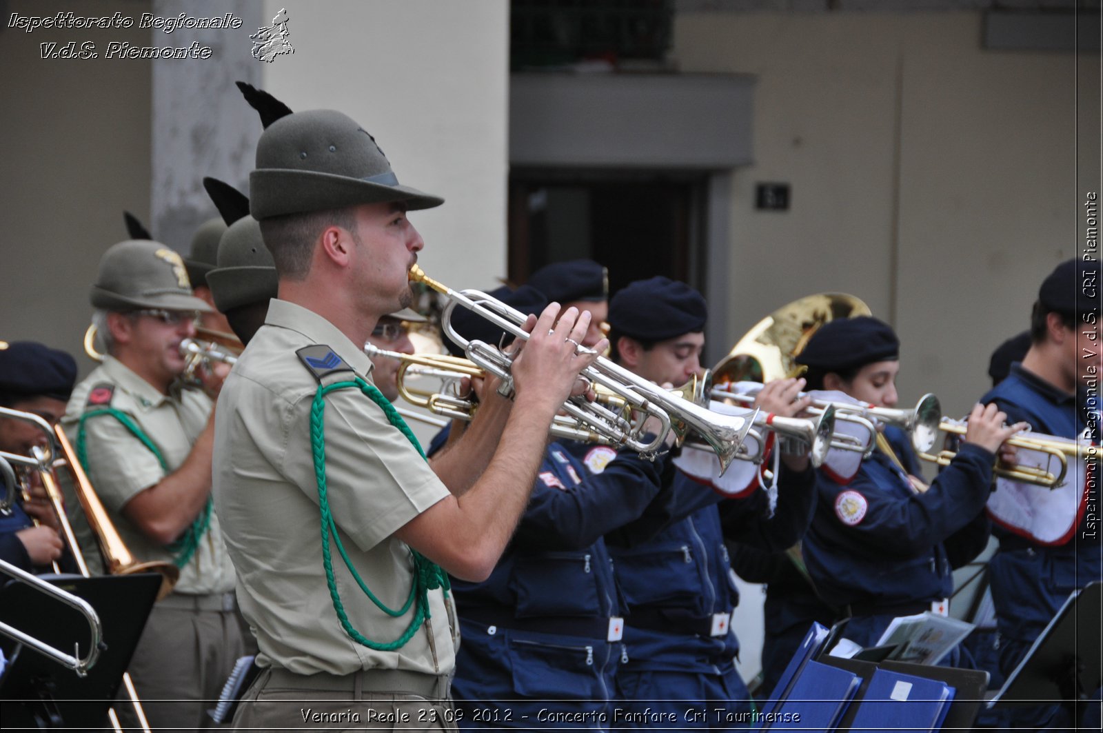
[[[860,686],[854,672],[810,661],[767,723],[786,731],[834,731]]]

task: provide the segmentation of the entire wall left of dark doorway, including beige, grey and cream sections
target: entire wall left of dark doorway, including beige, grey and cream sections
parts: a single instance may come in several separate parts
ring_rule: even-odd
[[[0,231],[3,286],[0,339],[35,339],[81,357],[88,323],[87,294],[100,255],[125,238],[122,211],[137,214],[154,236],[189,246],[181,212],[197,224],[211,215],[199,179],[214,174],[242,183],[253,167],[260,126],[233,87],[233,72],[249,33],[287,8],[295,54],[261,71],[259,85],[292,109],[338,108],[379,140],[399,180],[438,193],[445,206],[414,214],[428,243],[426,269],[456,287],[491,287],[505,273],[506,100],[508,4],[505,0],[443,3],[432,0],[373,2],[248,2],[224,8],[243,18],[237,30],[200,34],[215,55],[208,61],[42,60],[39,44],[93,40],[136,45],[186,46],[196,33],[149,30],[43,30],[2,28],[10,13],[83,15],[143,12],[205,15],[213,3],[161,0],[12,0],[0,19],[0,105],[3,163]],[[261,19],[258,21],[257,19]],[[153,63],[162,68],[154,78]],[[189,66],[184,67],[183,64]],[[164,145],[153,161],[153,86],[165,111],[158,123]],[[204,93],[204,89],[206,91]],[[181,110],[179,98],[190,99]],[[178,104],[173,107],[173,104]],[[245,108],[250,117],[237,120]],[[173,111],[175,110],[175,111]],[[212,120],[229,119],[212,137]],[[232,127],[233,129],[228,129]],[[204,142],[208,140],[208,142]],[[199,147],[196,147],[199,146]],[[217,148],[214,153],[210,148]],[[248,146],[247,146],[248,147]],[[175,152],[172,152],[175,151]],[[225,151],[225,156],[218,155]],[[176,155],[173,162],[167,156]],[[207,161],[204,170],[203,161]],[[151,211],[157,168],[160,203]],[[192,171],[181,179],[180,171]],[[186,178],[186,177],[185,177]],[[197,198],[196,198],[197,196]],[[181,221],[178,221],[181,220]],[[193,224],[193,225],[194,225]]]

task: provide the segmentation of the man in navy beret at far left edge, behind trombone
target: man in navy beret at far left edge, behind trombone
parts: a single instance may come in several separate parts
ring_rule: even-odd
[[[31,413],[54,425],[65,413],[75,382],[76,362],[64,351],[34,341],[0,349],[0,407]],[[42,431],[30,423],[0,415],[0,452],[31,456],[34,446],[45,442]],[[14,502],[9,512],[0,516],[0,559],[31,572],[61,557],[57,517],[41,484],[33,484],[29,499]]]

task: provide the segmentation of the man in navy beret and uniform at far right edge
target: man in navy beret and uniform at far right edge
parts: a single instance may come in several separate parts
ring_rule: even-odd
[[[1008,419],[1028,423],[1034,433],[1075,438],[1085,427],[1099,439],[1101,373],[1100,265],[1069,259],[1042,281],[1030,316],[1030,348],[1013,362],[1007,379],[982,397],[1005,411]],[[1083,465],[1069,466],[1068,512],[1048,519],[1068,528],[1063,537],[1042,541],[1018,518],[993,514],[999,549],[988,562],[992,598],[999,629],[999,667],[1010,673],[1041,630],[1077,588],[1103,577],[1096,516],[1099,492],[1084,489]],[[1091,485],[1086,485],[1091,486]],[[1021,495],[1049,489],[1002,482],[998,491]],[[994,497],[995,498],[995,497]],[[1010,711],[1011,725],[1041,727],[1060,722],[1059,705]],[[1068,721],[1065,721],[1068,722]]]

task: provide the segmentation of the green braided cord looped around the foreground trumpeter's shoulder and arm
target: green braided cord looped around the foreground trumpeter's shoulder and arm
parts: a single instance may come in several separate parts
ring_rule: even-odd
[[[367,395],[373,402],[375,402],[383,410],[384,414],[390,421],[390,424],[397,427],[403,435],[405,435],[410,443],[417,448],[417,452],[425,458],[425,453],[421,450],[420,444],[414,436],[414,433],[406,425],[398,412],[392,406],[392,404],[383,396],[383,394],[365,382],[361,378],[356,378],[349,382],[338,382],[335,384],[330,384],[329,386],[318,386],[318,392],[314,394],[314,402],[310,410],[310,445],[314,458],[314,477],[318,481],[318,503],[321,510],[321,529],[322,529],[322,565],[325,569],[325,584],[330,589],[330,598],[333,601],[333,610],[338,615],[338,619],[341,622],[341,627],[344,629],[345,634],[349,635],[351,639],[357,644],[365,646],[370,649],[375,649],[377,651],[393,651],[399,649],[406,645],[417,631],[417,628],[421,623],[430,617],[429,614],[429,598],[428,592],[435,588],[443,587],[445,594],[447,596],[449,591],[448,575],[435,563],[427,560],[424,555],[415,550],[410,550],[410,554],[414,559],[414,582],[410,585],[410,594],[407,597],[405,605],[401,608],[395,610],[388,608],[383,602],[381,602],[374,593],[367,587],[360,573],[353,566],[352,561],[349,559],[349,554],[345,552],[344,544],[341,542],[341,538],[338,534],[336,524],[333,521],[333,514],[330,511],[330,502],[328,496],[328,487],[325,479],[325,395],[334,390],[343,390],[350,387],[358,387],[362,393]],[[394,641],[384,644],[378,641],[372,641],[366,638],[363,634],[357,631],[352,623],[349,620],[349,615],[345,612],[344,604],[341,602],[341,596],[338,593],[336,581],[333,576],[333,557],[330,551],[330,543],[336,545],[338,552],[341,554],[341,559],[344,561],[345,567],[352,574],[360,589],[366,595],[376,608],[384,612],[388,616],[398,617],[406,614],[410,606],[417,601],[417,608],[414,613],[414,618],[410,620],[409,626],[403,633],[400,637]]]

